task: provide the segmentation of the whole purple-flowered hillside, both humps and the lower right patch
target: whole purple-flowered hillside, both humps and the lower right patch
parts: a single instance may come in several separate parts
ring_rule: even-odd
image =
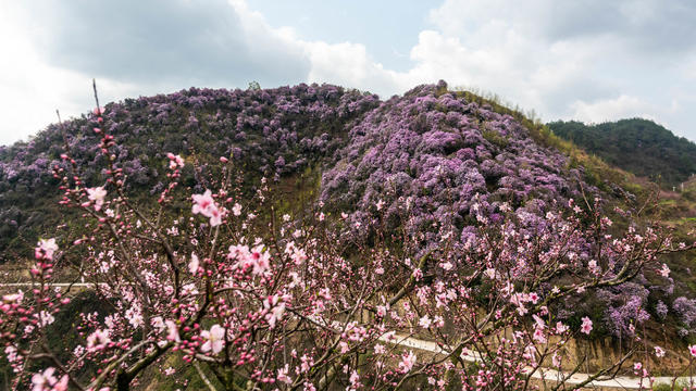
[[[139,198],[163,190],[169,152],[212,172],[220,156],[234,160],[248,184],[261,177],[279,184],[311,172],[321,174],[315,201],[348,212],[353,236],[369,241],[371,228],[386,224],[417,238],[421,253],[452,235],[456,245],[467,245],[473,225],[495,224],[502,209],[533,235],[548,212],[569,200],[606,194],[586,167],[542,142],[519,118],[470,97],[444,81],[386,101],[331,85],[191,88],[110,103],[105,117],[115,164]],[[86,167],[87,185],[102,185],[101,136],[89,124],[87,116],[53,124],[28,142],[0,147],[1,262],[28,256],[38,237],[59,224],[51,167],[66,164],[66,149]],[[202,192],[206,176],[191,166],[182,182]],[[696,301],[678,298],[673,285],[648,288],[638,276],[594,292],[592,300],[577,298],[559,315],[572,323],[591,314],[616,336],[630,332],[631,319],[669,315],[683,337],[692,336]]]

